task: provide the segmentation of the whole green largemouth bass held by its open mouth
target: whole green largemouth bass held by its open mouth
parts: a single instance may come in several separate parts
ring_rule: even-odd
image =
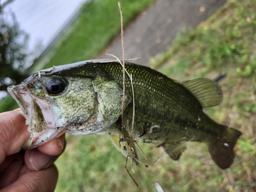
[[[178,160],[188,141],[203,142],[214,162],[230,167],[240,131],[219,124],[203,109],[221,103],[220,85],[206,78],[173,80],[125,61],[88,60],[42,70],[8,92],[22,109],[31,133],[25,149],[63,133],[108,134],[119,151],[139,157],[137,142],[164,147]]]

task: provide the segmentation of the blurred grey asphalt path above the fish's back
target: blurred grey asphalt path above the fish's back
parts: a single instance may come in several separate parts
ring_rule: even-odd
[[[193,28],[207,19],[226,0],[159,0],[124,31],[125,58],[141,59],[134,63],[150,66],[150,58],[165,52],[182,28]],[[122,58],[121,38],[106,50]],[[102,55],[101,58],[111,58]]]

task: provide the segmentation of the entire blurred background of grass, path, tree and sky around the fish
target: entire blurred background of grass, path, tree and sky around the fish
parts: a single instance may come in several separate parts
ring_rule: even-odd
[[[52,66],[122,57],[116,0],[0,1],[0,112],[18,108],[6,89]],[[233,165],[222,170],[201,143],[190,143],[179,161],[163,154],[152,166],[127,174],[125,157],[109,136],[67,136],[57,160],[56,191],[256,191],[255,0],[120,1],[125,58],[180,81],[197,77],[220,84],[221,105],[205,109],[216,121],[243,132]],[[139,143],[148,160],[162,153]],[[128,165],[130,172],[131,166]]]

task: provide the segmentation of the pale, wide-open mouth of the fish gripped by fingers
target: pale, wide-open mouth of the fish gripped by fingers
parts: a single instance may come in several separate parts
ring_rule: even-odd
[[[22,109],[26,125],[29,125],[31,135],[23,145],[24,150],[36,148],[66,132],[63,127],[55,129],[53,109],[44,99],[35,98],[23,84],[8,87],[8,92]]]

